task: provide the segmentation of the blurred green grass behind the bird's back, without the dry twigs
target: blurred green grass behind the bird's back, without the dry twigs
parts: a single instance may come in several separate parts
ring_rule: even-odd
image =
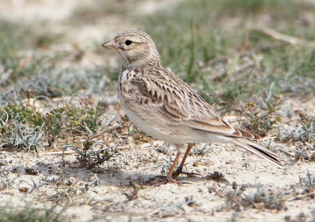
[[[145,31],[155,41],[164,66],[169,67],[188,82],[197,81],[200,85],[199,79],[207,79],[206,84],[211,86],[204,85],[203,88],[211,88],[209,94],[213,95],[215,88],[227,86],[234,89],[228,89],[224,93],[225,97],[233,98],[239,94],[245,94],[244,97],[248,97],[253,92],[235,90],[235,88],[243,87],[238,85],[241,81],[247,86],[247,90],[256,89],[260,84],[270,85],[271,82],[276,81],[277,87],[282,86],[278,89],[279,91],[294,91],[298,88],[299,93],[308,93],[314,86],[314,80],[311,77],[315,67],[315,49],[284,45],[267,51],[256,51],[249,55],[252,60],[255,60],[253,57],[257,54],[263,56],[263,60],[255,64],[261,66],[260,70],[254,66],[246,69],[244,73],[238,73],[234,68],[243,62],[240,57],[242,51],[257,50],[278,42],[269,36],[250,30],[249,24],[255,24],[263,15],[270,16],[270,21],[266,22],[267,27],[283,34],[314,41],[312,34],[315,31],[314,25],[310,24],[306,27],[299,24],[301,15],[311,13],[314,9],[312,4],[297,3],[293,0],[255,0],[237,3],[231,0],[204,0],[198,3],[185,1],[175,8],[163,9],[147,17]],[[218,73],[202,71],[204,67],[200,66],[200,63],[211,68],[212,66],[208,64],[219,60],[220,57],[228,57],[232,60],[232,63],[229,66],[226,65],[225,68],[229,75],[238,76],[238,82],[231,82],[226,76],[223,76],[219,83],[209,81],[209,75],[212,75],[214,79],[214,75]],[[223,65],[221,72],[224,72]],[[279,69],[282,70],[280,73]],[[259,81],[247,83],[248,77],[249,80]],[[301,81],[295,83],[299,78]],[[303,79],[311,81],[308,86],[301,87]],[[290,84],[287,85],[291,87],[283,87],[284,81],[289,81]],[[256,90],[256,93],[258,91]]]

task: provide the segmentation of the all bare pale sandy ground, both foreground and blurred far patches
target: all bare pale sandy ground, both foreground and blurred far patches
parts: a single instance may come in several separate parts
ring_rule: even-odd
[[[162,7],[165,3],[165,1],[145,2],[145,4],[138,3],[143,13],[152,13],[157,5]],[[75,41],[82,48],[89,47],[92,42],[91,36],[93,41],[101,44],[121,31],[138,28],[114,15],[104,15],[104,18],[98,19],[93,25],[69,28],[71,24],[64,21],[71,16],[74,9],[79,7],[75,1],[14,0],[3,1],[1,4],[0,13],[3,17],[12,20],[23,18],[29,22],[42,20],[47,23],[47,27],[55,29],[56,32],[69,30],[64,44],[73,44],[75,35]],[[90,4],[92,4],[90,1],[81,1],[80,7]],[[108,36],[108,39],[104,39],[104,36]],[[95,63],[103,62],[92,54],[85,54],[83,65],[93,66]],[[309,103],[314,106],[314,101]],[[310,112],[312,110],[314,107],[308,109]],[[176,154],[174,150],[166,155],[158,153],[154,147],[140,148],[139,145],[131,143],[119,147],[120,155],[112,159],[109,165],[100,167],[100,172],[97,174],[85,168],[76,169],[71,164],[76,161],[74,154],[63,158],[61,155],[46,155],[44,152],[35,156],[24,152],[3,151],[1,161],[11,163],[13,169],[6,174],[8,178],[17,177],[16,181],[37,180],[38,176],[26,173],[25,169],[31,168],[38,172],[41,181],[65,176],[81,194],[85,184],[90,185],[90,188],[84,191],[84,195],[82,194],[77,200],[69,198],[69,201],[74,203],[74,206],[66,209],[71,221],[89,221],[97,217],[99,219],[95,220],[99,221],[315,221],[315,200],[311,198],[287,200],[285,207],[279,211],[246,208],[241,212],[235,212],[226,209],[225,198],[220,195],[221,192],[232,190],[233,181],[236,181],[238,186],[248,185],[250,188],[247,192],[255,192],[255,185],[267,183],[272,184],[275,189],[288,190],[290,185],[299,182],[300,177],[305,177],[306,169],[315,172],[313,163],[300,161],[298,164],[278,169],[269,162],[244,153],[242,149],[235,146],[211,144],[213,145],[219,148],[213,148],[203,156],[190,156],[186,160],[187,170],[202,176],[179,177],[181,182],[188,182],[183,186],[174,183],[159,187],[145,186],[134,196],[133,188],[129,186],[130,181],[140,184],[141,180],[146,181],[160,175],[161,167],[158,165],[165,163],[162,158],[173,160]],[[193,163],[197,160],[199,165],[195,167]],[[226,181],[207,179],[206,176],[214,171],[224,174]],[[98,186],[93,183],[96,176],[101,181]],[[30,186],[22,181],[19,187]],[[14,189],[0,192],[1,206],[14,204],[19,207],[33,204],[36,207],[48,207],[49,200],[43,201],[43,199],[52,197],[56,193],[60,195],[58,188],[54,188],[53,191],[49,186],[40,187],[38,191],[31,193],[12,190]],[[209,192],[209,190],[216,190],[216,192]],[[86,201],[82,201],[82,197],[85,197]],[[62,208],[61,204],[57,210]]]

